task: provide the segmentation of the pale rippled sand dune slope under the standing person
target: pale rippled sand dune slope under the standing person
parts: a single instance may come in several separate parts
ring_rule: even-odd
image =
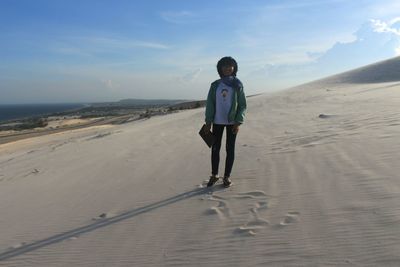
[[[204,109],[1,145],[0,266],[400,266],[388,64],[249,98],[229,189]]]

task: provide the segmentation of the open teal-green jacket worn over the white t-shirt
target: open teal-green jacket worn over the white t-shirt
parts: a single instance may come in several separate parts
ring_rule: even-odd
[[[206,104],[206,123],[213,123],[215,116],[215,99],[217,87],[221,80],[216,80],[211,84],[210,91],[207,96]],[[247,108],[246,96],[243,91],[243,85],[240,84],[234,90],[232,97],[232,107],[229,111],[228,120],[237,124],[242,124],[244,121],[244,116]]]

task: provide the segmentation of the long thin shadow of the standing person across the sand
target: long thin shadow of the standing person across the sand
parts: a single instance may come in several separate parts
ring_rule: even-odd
[[[153,204],[149,204],[149,205],[141,207],[141,208],[137,208],[137,209],[133,209],[133,210],[124,212],[115,217],[99,219],[98,221],[88,224],[86,226],[82,226],[82,227],[51,236],[46,239],[35,241],[35,242],[29,243],[29,244],[24,244],[23,246],[15,248],[15,249],[10,249],[5,252],[1,252],[0,253],[0,261],[7,260],[9,258],[13,258],[13,257],[40,249],[42,247],[49,246],[49,245],[52,245],[55,243],[59,243],[61,241],[67,240],[72,237],[76,237],[78,235],[92,232],[96,229],[99,229],[99,228],[102,228],[105,226],[109,226],[109,225],[118,223],[123,220],[130,219],[132,217],[138,216],[143,213],[150,212],[150,211],[158,209],[158,208],[165,207],[167,205],[176,203],[178,201],[189,199],[189,198],[201,195],[201,194],[206,194],[208,192],[218,191],[221,189],[222,188],[219,188],[218,186],[213,187],[213,188],[197,188],[197,189],[176,195],[174,197],[170,197],[165,200],[161,200],[161,201],[155,202]]]

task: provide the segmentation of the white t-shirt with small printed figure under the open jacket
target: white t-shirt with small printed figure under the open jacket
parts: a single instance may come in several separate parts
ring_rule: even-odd
[[[215,97],[215,124],[233,125],[233,121],[229,121],[229,111],[232,107],[232,97],[234,89],[223,82],[220,82]]]

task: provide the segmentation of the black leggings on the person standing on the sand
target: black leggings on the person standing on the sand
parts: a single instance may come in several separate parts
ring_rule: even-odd
[[[225,161],[225,173],[224,177],[231,175],[233,162],[235,160],[235,142],[236,134],[233,133],[233,125],[219,125],[213,124],[213,134],[216,137],[216,141],[212,146],[211,150],[211,166],[212,174],[218,174],[219,167],[219,151],[221,150],[222,134],[226,127],[226,161]]]

